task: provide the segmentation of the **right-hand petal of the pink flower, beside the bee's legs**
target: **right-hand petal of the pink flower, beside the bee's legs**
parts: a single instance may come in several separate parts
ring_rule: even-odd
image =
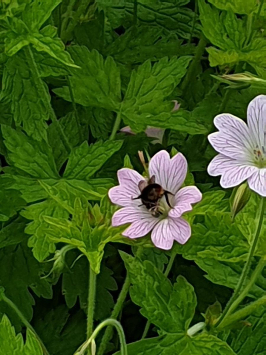
[[[174,196],[174,206],[170,209],[168,216],[173,218],[181,217],[184,212],[192,210],[192,203],[199,202],[201,198],[202,194],[198,187],[183,187]]]

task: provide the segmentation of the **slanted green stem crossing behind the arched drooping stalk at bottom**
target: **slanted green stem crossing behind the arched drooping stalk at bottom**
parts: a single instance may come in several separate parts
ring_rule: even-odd
[[[125,282],[123,284],[123,287],[120,291],[120,294],[117,298],[115,307],[113,308],[112,314],[111,314],[111,319],[116,319],[122,309],[122,306],[124,304],[124,301],[126,299],[128,290],[129,290],[129,286],[130,286],[130,279],[128,277],[128,275],[126,276]],[[104,335],[101,339],[101,343],[99,346],[99,350],[97,355],[103,355],[106,349],[107,344],[109,343],[109,341],[111,340],[112,337],[112,327],[107,327],[105,329]]]

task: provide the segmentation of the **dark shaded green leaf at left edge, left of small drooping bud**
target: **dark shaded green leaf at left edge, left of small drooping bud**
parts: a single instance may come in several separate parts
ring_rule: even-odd
[[[21,243],[18,246],[8,246],[0,250],[0,263],[5,265],[0,269],[1,286],[5,289],[5,295],[15,303],[27,320],[33,315],[34,298],[29,291],[31,289],[38,297],[52,297],[52,288],[46,279],[40,279],[47,264],[40,264],[32,255],[32,251]],[[15,317],[11,308],[4,302],[0,304],[0,311]],[[17,321],[17,315],[16,315]]]

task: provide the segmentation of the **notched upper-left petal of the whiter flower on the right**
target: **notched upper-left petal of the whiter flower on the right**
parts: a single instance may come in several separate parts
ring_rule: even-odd
[[[214,149],[227,157],[249,161],[254,142],[245,122],[233,115],[221,114],[215,117],[214,125],[220,130],[208,136]]]

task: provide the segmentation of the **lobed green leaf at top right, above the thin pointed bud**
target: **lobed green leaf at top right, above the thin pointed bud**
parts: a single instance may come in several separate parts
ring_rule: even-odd
[[[211,66],[236,64],[246,61],[256,67],[264,67],[266,39],[260,32],[249,33],[248,26],[232,11],[220,13],[215,7],[199,1],[200,21],[204,35],[212,44],[220,47],[208,47]],[[250,38],[249,38],[250,37]]]

